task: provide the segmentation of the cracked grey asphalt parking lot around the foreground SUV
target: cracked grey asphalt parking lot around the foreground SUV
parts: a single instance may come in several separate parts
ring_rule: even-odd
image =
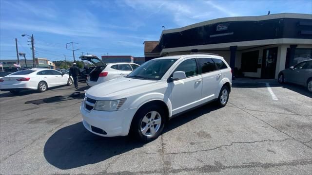
[[[70,96],[84,89],[0,92],[0,174],[312,174],[312,94],[302,87],[234,84],[227,106],[176,117],[146,144],[84,129],[83,96]]]

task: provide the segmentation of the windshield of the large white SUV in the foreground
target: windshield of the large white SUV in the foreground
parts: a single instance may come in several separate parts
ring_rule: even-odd
[[[154,59],[145,62],[131,72],[128,78],[160,80],[177,59]]]

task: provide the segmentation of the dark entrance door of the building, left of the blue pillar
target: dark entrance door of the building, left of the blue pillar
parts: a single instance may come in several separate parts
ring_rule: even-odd
[[[275,78],[277,47],[263,50],[261,78]]]

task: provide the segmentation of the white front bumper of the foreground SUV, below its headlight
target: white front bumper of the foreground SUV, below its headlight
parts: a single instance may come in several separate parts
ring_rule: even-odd
[[[89,112],[85,109],[84,102],[80,105],[84,127],[88,131],[103,137],[127,136],[136,111],[137,108],[120,111],[91,110]],[[95,127],[97,129],[94,129]],[[98,132],[99,129],[105,132]]]

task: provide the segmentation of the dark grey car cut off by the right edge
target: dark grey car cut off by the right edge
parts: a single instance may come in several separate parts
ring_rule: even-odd
[[[278,74],[278,82],[294,83],[307,87],[312,92],[312,59],[302,61],[295,66],[282,70]]]

